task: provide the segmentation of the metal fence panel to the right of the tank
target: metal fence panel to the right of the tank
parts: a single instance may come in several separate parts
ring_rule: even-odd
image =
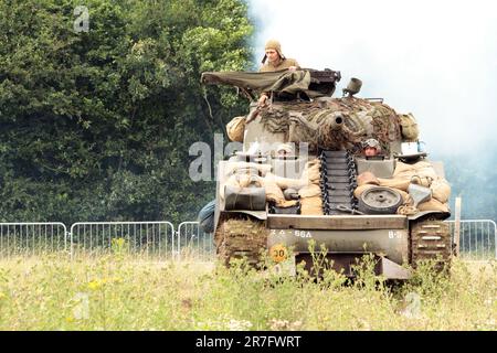
[[[447,221],[454,236],[455,221]],[[497,259],[497,226],[491,220],[461,221],[459,256],[470,260]]]

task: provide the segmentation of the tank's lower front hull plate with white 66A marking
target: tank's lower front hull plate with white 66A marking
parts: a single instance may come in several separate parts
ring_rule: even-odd
[[[322,247],[331,267],[353,276],[353,266],[374,254],[376,272],[388,279],[408,279],[409,227],[405,216],[267,216],[267,248],[290,250],[286,272],[293,274],[298,263],[311,268],[313,252]],[[314,244],[314,245],[313,245]]]

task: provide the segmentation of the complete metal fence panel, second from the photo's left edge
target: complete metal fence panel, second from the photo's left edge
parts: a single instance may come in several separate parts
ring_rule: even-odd
[[[142,259],[173,258],[170,222],[81,222],[71,226],[71,257],[120,253]]]

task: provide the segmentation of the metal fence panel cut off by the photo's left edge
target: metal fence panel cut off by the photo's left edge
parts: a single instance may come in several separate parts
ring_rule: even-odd
[[[63,223],[0,223],[0,258],[55,254],[65,256],[67,229]]]

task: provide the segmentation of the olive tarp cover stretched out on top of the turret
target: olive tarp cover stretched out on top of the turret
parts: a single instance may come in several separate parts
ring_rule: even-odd
[[[252,72],[207,72],[202,74],[202,84],[224,84],[248,92],[276,92],[286,94],[305,93],[310,98],[330,96],[335,83],[320,84],[313,79],[308,69],[276,71],[269,73]]]

